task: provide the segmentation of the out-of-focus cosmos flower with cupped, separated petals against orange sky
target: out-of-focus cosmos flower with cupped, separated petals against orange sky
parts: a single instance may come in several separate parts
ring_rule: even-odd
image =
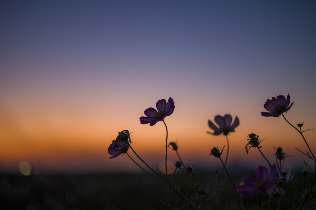
[[[209,126],[214,130],[214,133],[207,133],[214,135],[224,133],[224,135],[227,135],[229,132],[234,132],[234,128],[239,125],[239,119],[237,116],[235,118],[233,125],[230,125],[230,123],[232,122],[232,116],[230,116],[230,114],[225,114],[224,117],[217,115],[215,117],[215,122],[219,125],[219,128],[209,120]]]

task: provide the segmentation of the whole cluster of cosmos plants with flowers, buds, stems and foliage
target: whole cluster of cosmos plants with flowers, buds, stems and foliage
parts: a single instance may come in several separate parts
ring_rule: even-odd
[[[161,188],[168,191],[173,191],[175,194],[175,203],[164,204],[172,206],[173,209],[314,209],[315,208],[315,193],[313,192],[313,186],[316,182],[316,158],[310,149],[301,127],[304,123],[296,124],[296,127],[292,125],[284,116],[284,113],[289,111],[294,102],[290,104],[290,96],[287,98],[283,95],[279,95],[276,98],[268,99],[264,108],[268,112],[261,112],[262,116],[265,117],[279,117],[283,116],[287,123],[293,127],[304,140],[307,146],[307,152],[305,154],[309,159],[315,163],[314,170],[305,161],[301,169],[294,175],[293,171],[289,171],[282,165],[282,161],[288,156],[285,154],[281,147],[278,147],[274,153],[276,157],[276,164],[270,164],[268,159],[264,156],[260,150],[261,145],[259,135],[251,133],[248,134],[248,143],[245,146],[246,152],[249,153],[250,148],[255,147],[261,153],[263,158],[267,162],[267,167],[259,166],[255,171],[256,178],[248,178],[244,182],[238,185],[233,181],[226,168],[229,152],[229,141],[228,134],[234,132],[234,129],[239,125],[239,118],[236,116],[233,122],[231,115],[225,114],[224,116],[215,116],[214,124],[209,120],[209,127],[213,132],[207,132],[211,135],[224,135],[227,140],[226,157],[222,159],[222,149],[213,147],[210,152],[210,156],[218,158],[222,163],[222,170],[216,171],[213,176],[213,183],[198,182],[194,178],[193,165],[185,164],[178,153],[178,142],[169,142],[168,144],[168,129],[165,123],[165,118],[173,113],[174,102],[172,98],[161,99],[156,103],[156,108],[147,108],[144,112],[145,117],[140,117],[141,124],[149,124],[154,126],[157,122],[162,121],[166,127],[166,156],[165,156],[165,173],[157,172],[152,169],[142,158],[140,158],[131,146],[131,138],[128,130],[119,132],[117,138],[112,141],[112,144],[108,148],[108,152],[112,157],[115,158],[120,154],[128,154],[129,149],[135,153],[137,158],[146,165],[147,168],[140,166],[134,159],[131,160],[137,164],[145,173],[151,176],[157,181]],[[232,123],[233,122],[233,123]],[[259,146],[260,145],[260,146]],[[167,151],[172,149],[176,152],[179,160],[174,161],[174,170],[168,171],[167,169]],[[296,148],[295,148],[296,149]],[[305,167],[306,169],[303,169]],[[225,171],[228,182],[223,186],[222,174]],[[232,185],[234,188],[230,193],[234,193],[237,198],[236,201],[230,201],[229,198],[222,199],[223,190],[226,185]],[[253,202],[257,201],[257,207],[254,207]],[[227,203],[227,205],[223,205]]]

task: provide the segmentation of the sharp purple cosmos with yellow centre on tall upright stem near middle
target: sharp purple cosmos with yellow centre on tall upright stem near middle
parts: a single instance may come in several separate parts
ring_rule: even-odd
[[[168,103],[165,99],[161,99],[156,103],[157,110],[155,108],[148,108],[144,111],[147,117],[140,117],[141,124],[148,124],[153,126],[158,121],[162,121],[165,117],[171,115],[174,110],[174,102],[172,98],[168,99]]]

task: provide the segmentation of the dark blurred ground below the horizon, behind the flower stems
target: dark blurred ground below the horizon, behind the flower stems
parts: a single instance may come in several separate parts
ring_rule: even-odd
[[[211,182],[212,176],[204,174],[201,177],[208,177],[208,182]],[[245,174],[235,176],[234,182],[239,183],[247,177],[252,175],[246,173],[246,177]],[[198,176],[192,178],[203,180]],[[222,180],[221,185],[227,185],[222,192],[223,202],[219,209],[240,209],[239,197],[231,183],[227,183],[224,177]],[[187,182],[185,176],[182,176],[181,182]],[[207,192],[209,188],[206,189]],[[212,185],[212,190],[214,188]],[[181,189],[185,191],[184,187]],[[193,191],[193,195],[195,193],[197,191]],[[213,194],[214,192],[211,195]],[[261,197],[262,200],[268,198],[267,195]],[[1,210],[171,210],[172,207],[163,203],[175,204],[176,200],[174,192],[162,190],[159,183],[144,173],[32,176],[0,174]],[[181,198],[178,200],[183,201]],[[248,209],[258,209],[256,199],[245,201]]]

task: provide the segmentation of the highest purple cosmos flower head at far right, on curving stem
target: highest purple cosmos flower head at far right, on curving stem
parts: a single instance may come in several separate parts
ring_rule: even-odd
[[[286,97],[286,100],[285,100],[285,97],[283,95],[276,96],[276,98],[272,97],[271,100],[268,99],[265,102],[265,104],[263,105],[263,107],[269,112],[261,112],[261,115],[264,117],[279,117],[284,112],[289,111],[289,109],[291,108],[293,103],[291,103],[291,105],[290,105],[290,95],[289,94]]]

